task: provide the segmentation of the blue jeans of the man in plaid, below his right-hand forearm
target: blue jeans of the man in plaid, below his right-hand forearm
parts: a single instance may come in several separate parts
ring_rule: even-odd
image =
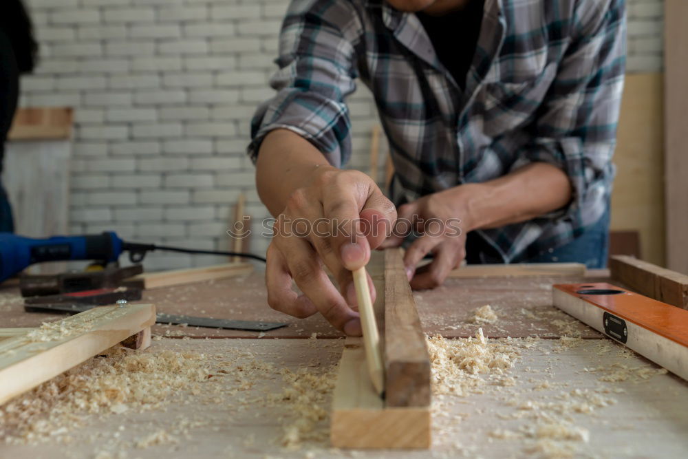
[[[585,233],[551,252],[537,255],[526,263],[583,263],[588,268],[605,268],[609,255],[609,207]]]

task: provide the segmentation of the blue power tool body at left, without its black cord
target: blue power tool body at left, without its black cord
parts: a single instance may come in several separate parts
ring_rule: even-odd
[[[0,233],[0,282],[34,263],[43,261],[116,261],[122,253],[122,239],[109,231],[99,235],[53,236],[32,239]]]

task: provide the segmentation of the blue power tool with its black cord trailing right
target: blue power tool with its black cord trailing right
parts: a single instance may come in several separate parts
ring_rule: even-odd
[[[53,236],[32,239],[12,233],[0,233],[0,282],[21,273],[34,263],[43,261],[94,260],[103,264],[117,261],[123,252],[129,252],[129,261],[140,263],[146,253],[153,250],[170,250],[181,253],[244,257],[265,262],[264,257],[251,253],[222,250],[195,250],[191,248],[158,246],[122,241],[113,231],[98,235]]]

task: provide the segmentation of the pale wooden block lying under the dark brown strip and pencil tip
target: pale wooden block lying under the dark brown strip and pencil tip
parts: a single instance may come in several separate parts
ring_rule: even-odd
[[[385,407],[370,382],[363,343],[347,338],[332,396],[330,441],[338,448],[429,448],[430,408]]]

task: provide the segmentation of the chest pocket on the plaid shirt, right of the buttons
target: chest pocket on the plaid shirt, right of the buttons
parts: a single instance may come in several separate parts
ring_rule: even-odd
[[[476,110],[483,118],[484,134],[496,138],[530,123],[543,102],[557,65],[550,63],[535,78],[518,83],[486,83],[477,96]]]

